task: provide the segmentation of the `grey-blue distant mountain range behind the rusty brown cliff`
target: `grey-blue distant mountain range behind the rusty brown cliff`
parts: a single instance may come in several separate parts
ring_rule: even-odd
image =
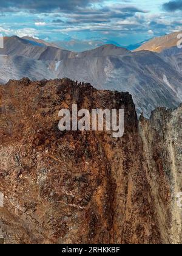
[[[0,82],[69,77],[99,89],[129,91],[137,113],[149,116],[156,107],[175,108],[182,102],[177,34],[153,38],[134,52],[113,44],[71,52],[35,38],[6,37],[0,49]]]

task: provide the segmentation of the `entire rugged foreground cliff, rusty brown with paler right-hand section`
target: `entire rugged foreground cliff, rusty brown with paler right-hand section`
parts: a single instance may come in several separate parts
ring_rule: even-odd
[[[124,108],[124,136],[60,132],[73,103]],[[138,124],[128,93],[13,80],[0,87],[0,141],[4,243],[180,243],[181,107]]]

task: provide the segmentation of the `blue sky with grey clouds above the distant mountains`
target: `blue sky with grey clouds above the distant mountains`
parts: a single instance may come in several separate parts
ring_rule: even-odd
[[[135,44],[182,30],[182,0],[1,0],[0,33],[70,44]]]

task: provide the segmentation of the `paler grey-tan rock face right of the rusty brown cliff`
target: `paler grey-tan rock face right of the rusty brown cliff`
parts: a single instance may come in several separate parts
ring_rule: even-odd
[[[182,105],[158,108],[150,120],[141,118],[140,134],[148,166],[147,180],[157,206],[160,230],[170,243],[182,240]]]

